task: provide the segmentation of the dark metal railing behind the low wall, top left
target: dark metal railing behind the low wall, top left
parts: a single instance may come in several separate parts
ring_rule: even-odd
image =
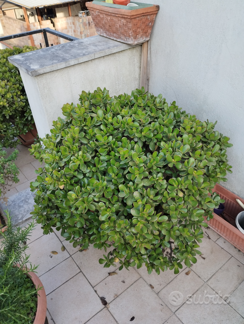
[[[67,34],[61,33],[60,31],[57,31],[57,30],[53,30],[53,29],[50,29],[50,28],[42,28],[42,29],[26,31],[24,33],[3,36],[3,37],[0,37],[0,41],[7,41],[7,40],[11,40],[13,38],[29,36],[29,35],[33,35],[33,34],[39,34],[39,33],[43,33],[43,37],[44,37],[46,47],[49,47],[47,33],[50,33],[52,35],[56,35],[58,37],[64,38],[65,40],[68,40],[68,41],[76,41],[76,40],[79,39],[79,38],[76,38],[76,37],[69,36]]]

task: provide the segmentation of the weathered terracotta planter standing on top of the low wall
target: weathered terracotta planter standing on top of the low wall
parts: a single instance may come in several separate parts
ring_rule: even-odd
[[[92,2],[86,2],[85,5],[90,11],[98,35],[129,45],[149,41],[159,10],[158,5],[134,10],[101,6]]]

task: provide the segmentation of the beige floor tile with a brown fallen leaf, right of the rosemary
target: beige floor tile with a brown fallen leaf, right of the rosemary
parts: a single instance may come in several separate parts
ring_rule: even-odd
[[[53,233],[43,235],[29,244],[28,254],[30,254],[30,262],[32,265],[39,264],[37,268],[38,276],[41,276],[69,257],[67,251],[61,251],[61,246],[62,243]],[[51,254],[51,251],[56,251],[58,254]]]

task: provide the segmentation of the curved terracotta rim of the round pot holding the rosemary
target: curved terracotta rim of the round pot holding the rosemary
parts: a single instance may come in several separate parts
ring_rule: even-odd
[[[29,272],[26,274],[28,278],[33,282],[33,284],[38,287],[43,287],[40,279],[34,272]],[[38,291],[37,295],[37,312],[33,324],[44,324],[46,320],[47,313],[47,297],[44,287]]]

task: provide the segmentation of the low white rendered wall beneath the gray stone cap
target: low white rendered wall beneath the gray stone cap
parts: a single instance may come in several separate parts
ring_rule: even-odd
[[[137,46],[37,76],[20,70],[39,136],[50,134],[52,121],[64,118],[62,106],[79,103],[83,90],[105,87],[113,96],[139,88],[140,63]]]

